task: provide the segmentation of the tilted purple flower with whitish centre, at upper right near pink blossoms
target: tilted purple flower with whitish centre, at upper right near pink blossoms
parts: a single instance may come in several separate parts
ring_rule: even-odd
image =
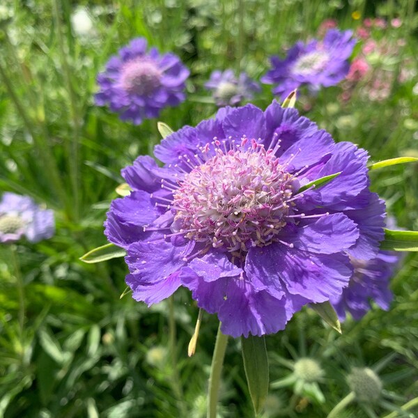
[[[356,42],[352,35],[352,31],[330,29],[321,41],[311,40],[306,45],[296,42],[285,59],[270,58],[272,70],[261,82],[276,84],[272,91],[282,100],[300,86],[308,86],[311,91],[335,86],[348,74],[348,58]]]

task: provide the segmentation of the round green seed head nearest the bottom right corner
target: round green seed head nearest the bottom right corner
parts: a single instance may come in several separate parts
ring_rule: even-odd
[[[347,381],[358,402],[375,403],[382,394],[382,380],[368,367],[354,367]]]

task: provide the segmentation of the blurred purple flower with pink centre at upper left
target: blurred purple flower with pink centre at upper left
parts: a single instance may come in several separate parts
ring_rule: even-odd
[[[185,80],[189,70],[174,54],[160,55],[146,40],[136,38],[112,56],[106,70],[98,75],[98,106],[109,105],[122,121],[139,125],[156,118],[160,110],[185,100]]]

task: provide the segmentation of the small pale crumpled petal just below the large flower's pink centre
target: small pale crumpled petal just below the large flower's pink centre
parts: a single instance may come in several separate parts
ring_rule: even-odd
[[[231,263],[226,254],[220,251],[210,251],[202,257],[194,258],[189,268],[204,281],[215,281],[220,277],[233,277],[242,273],[242,269]]]

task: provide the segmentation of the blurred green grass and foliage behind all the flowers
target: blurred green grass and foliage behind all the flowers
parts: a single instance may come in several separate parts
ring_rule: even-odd
[[[88,6],[93,20],[87,36],[72,27],[79,6]],[[155,120],[134,127],[94,106],[95,77],[111,54],[144,36],[181,56],[192,72],[188,99],[160,116],[177,130],[215,113],[203,88],[212,70],[246,70],[258,79],[270,54],[315,36],[328,18],[355,29],[364,17],[400,17],[400,28],[388,25],[373,36],[405,40],[392,71],[411,59],[416,68],[416,9],[412,0],[2,1],[0,189],[56,210],[57,231],[36,245],[0,247],[0,416],[206,415],[217,318],[203,316],[196,355],[188,358],[198,311],[188,291],[148,309],[129,295],[119,298],[123,259],[79,261],[106,243],[102,224],[122,182],[121,168],[160,141]],[[361,20],[353,19],[355,11]],[[417,81],[415,75],[394,82],[382,102],[365,100],[360,85],[343,104],[336,86],[316,98],[302,96],[297,107],[336,141],[369,150],[373,162],[418,156]],[[263,86],[254,104],[265,108],[271,100],[270,86]],[[418,230],[417,164],[373,171],[371,182],[398,226]],[[392,399],[386,408],[417,397],[417,267],[417,256],[406,256],[392,281],[392,309],[373,309],[359,323],[347,320],[341,336],[308,309],[286,331],[268,336],[271,380],[288,376],[291,360],[309,355],[325,370],[319,385],[324,398],[319,401],[316,389],[273,388],[263,416],[325,417],[348,394],[350,369],[382,359],[385,396]],[[223,376],[219,416],[252,417],[239,339],[229,341]],[[393,416],[418,416],[400,411]],[[341,417],[388,413],[383,403],[369,410],[353,404]]]

